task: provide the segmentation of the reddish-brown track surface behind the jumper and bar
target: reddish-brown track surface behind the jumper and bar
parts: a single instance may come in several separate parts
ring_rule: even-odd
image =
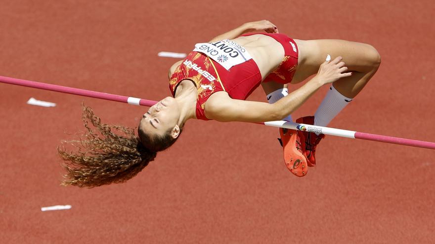
[[[268,19],[294,38],[366,42],[381,53],[378,73],[331,127],[435,140],[433,1],[153,3],[0,1],[0,75],[159,100],[176,61],[159,51],[189,52]],[[82,102],[131,127],[144,107],[0,91],[0,243],[434,242],[434,150],[327,137],[317,166],[298,178],[275,128],[194,121],[125,184],[61,187],[56,146],[83,131]],[[294,117],[312,114],[325,92]],[[57,106],[26,105],[30,97]],[[262,91],[250,99],[264,101]]]

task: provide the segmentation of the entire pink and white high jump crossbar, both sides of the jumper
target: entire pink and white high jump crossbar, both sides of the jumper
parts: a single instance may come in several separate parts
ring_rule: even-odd
[[[67,86],[59,86],[59,85],[47,84],[47,83],[42,83],[42,82],[30,81],[30,80],[10,78],[10,77],[5,77],[5,76],[0,76],[0,82],[7,83],[7,84],[13,84],[13,85],[38,88],[38,89],[43,89],[43,90],[48,90],[48,91],[62,92],[62,93],[80,95],[80,96],[85,96],[85,97],[99,98],[99,99],[105,99],[105,100],[110,100],[110,101],[128,103],[128,104],[132,104],[132,105],[152,106],[152,105],[155,105],[157,103],[156,101],[152,101],[152,100],[126,97],[126,96],[114,95],[114,94],[103,93],[103,92],[95,92],[95,91],[72,88],[72,87],[67,87]],[[356,132],[356,131],[341,130],[341,129],[323,127],[323,126],[298,124],[298,123],[288,122],[288,121],[269,121],[269,122],[257,123],[257,124],[263,124],[263,125],[267,125],[267,126],[281,127],[281,128],[287,128],[287,129],[293,129],[293,130],[300,130],[300,131],[306,131],[306,132],[316,132],[316,133],[322,133],[322,134],[337,136],[337,137],[374,140],[374,141],[387,142],[387,143],[393,143],[393,144],[435,149],[435,143],[430,142],[430,141],[389,137],[389,136],[382,136],[382,135],[362,133],[362,132]]]

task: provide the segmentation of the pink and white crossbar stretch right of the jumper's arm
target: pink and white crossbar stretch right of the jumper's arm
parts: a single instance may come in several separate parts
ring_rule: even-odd
[[[362,133],[362,132],[356,132],[356,131],[348,131],[348,130],[342,130],[342,129],[323,127],[323,126],[298,124],[298,123],[288,122],[288,121],[269,121],[269,122],[264,122],[264,125],[273,126],[273,127],[282,127],[282,128],[300,130],[300,131],[307,131],[307,132],[314,132],[314,133],[322,133],[325,135],[331,135],[331,136],[337,136],[337,137],[374,140],[374,141],[388,142],[388,143],[393,143],[393,144],[435,149],[435,143],[430,142],[430,141],[412,140],[412,139],[404,139],[404,138],[397,138],[397,137],[388,137],[388,136],[368,134],[368,133]]]

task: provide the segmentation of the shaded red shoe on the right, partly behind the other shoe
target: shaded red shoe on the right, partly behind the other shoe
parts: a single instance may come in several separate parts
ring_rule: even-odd
[[[296,123],[302,123],[307,125],[313,125],[314,124],[314,116],[305,116],[302,118],[299,118],[296,120]],[[306,157],[306,163],[309,167],[313,167],[316,165],[316,147],[319,144],[320,140],[325,138],[324,134],[319,134],[318,136],[315,133],[312,132],[303,132],[299,131],[302,134],[304,134],[305,139],[305,157]]]

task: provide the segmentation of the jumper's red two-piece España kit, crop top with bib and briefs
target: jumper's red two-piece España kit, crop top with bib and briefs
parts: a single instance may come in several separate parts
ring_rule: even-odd
[[[273,80],[283,84],[289,83],[298,65],[296,43],[282,34],[263,35],[271,36],[280,42],[285,51],[280,66],[263,82]],[[225,91],[232,99],[245,100],[261,84],[261,73],[242,46],[231,40],[221,40],[195,45],[195,50],[187,55],[170,78],[169,87],[173,96],[178,84],[185,79],[193,81],[198,89],[197,119],[209,120],[205,116],[204,108],[213,93]]]

